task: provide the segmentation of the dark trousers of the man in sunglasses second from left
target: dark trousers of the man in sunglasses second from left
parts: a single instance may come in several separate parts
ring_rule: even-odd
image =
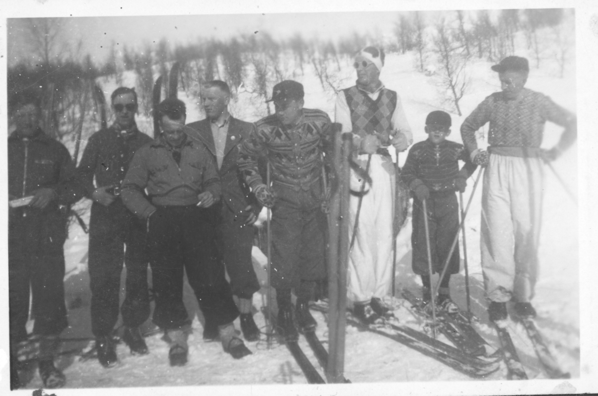
[[[120,309],[123,323],[138,327],[149,318],[145,224],[120,199],[110,206],[94,202],[89,226],[89,279],[91,331],[96,337],[111,334],[118,320],[123,262],[127,269],[126,297]]]

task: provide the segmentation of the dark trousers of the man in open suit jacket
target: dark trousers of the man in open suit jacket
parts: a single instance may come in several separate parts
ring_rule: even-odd
[[[218,260],[224,263],[233,295],[251,298],[260,290],[260,282],[254,272],[251,249],[254,245],[254,227],[245,226],[245,215],[236,214],[219,202],[214,211],[216,219],[216,246]]]

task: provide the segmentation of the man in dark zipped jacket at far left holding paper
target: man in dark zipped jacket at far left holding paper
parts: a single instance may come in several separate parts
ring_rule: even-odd
[[[39,128],[35,99],[16,112],[17,129],[8,138],[8,274],[11,388],[20,386],[17,355],[28,339],[25,328],[32,295],[33,334],[39,337],[39,376],[45,388],[66,379],[54,367],[58,337],[66,319],[65,256],[67,207],[83,194],[66,148]]]

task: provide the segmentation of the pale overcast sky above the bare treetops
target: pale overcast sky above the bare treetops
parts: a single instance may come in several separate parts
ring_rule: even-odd
[[[103,62],[114,41],[118,47],[141,47],[166,38],[173,48],[198,38],[229,39],[242,34],[268,32],[274,39],[286,39],[300,33],[336,41],[352,32],[373,36],[392,34],[398,13],[285,13],[231,14],[195,16],[130,16],[130,17],[72,17],[62,19],[68,32],[63,41],[74,48],[79,39],[81,51],[90,53],[95,62]],[[17,20],[9,21],[8,49],[10,62],[29,56],[25,35]],[[17,59],[15,59],[15,57]]]

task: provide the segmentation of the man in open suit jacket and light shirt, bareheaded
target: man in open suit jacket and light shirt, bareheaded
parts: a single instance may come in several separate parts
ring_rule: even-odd
[[[218,165],[222,199],[213,206],[216,218],[216,246],[219,261],[225,264],[233,295],[238,297],[243,336],[248,341],[260,338],[251,308],[253,294],[260,290],[255,276],[251,249],[254,230],[261,206],[240,176],[237,167],[239,145],[251,133],[252,124],[237,120],[228,113],[230,88],[224,81],[209,81],[202,90],[206,119],[188,124],[191,136],[208,148],[213,163]],[[224,271],[224,267],[218,266]],[[206,320],[203,338],[215,339],[218,327]]]

